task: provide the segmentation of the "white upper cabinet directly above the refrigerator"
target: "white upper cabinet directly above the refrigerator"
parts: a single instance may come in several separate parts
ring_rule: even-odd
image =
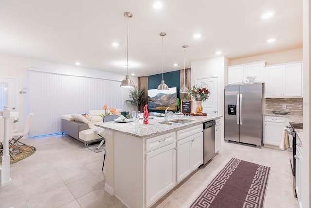
[[[266,61],[241,64],[228,67],[228,84],[247,83],[248,76],[256,76],[254,82],[264,82]]]

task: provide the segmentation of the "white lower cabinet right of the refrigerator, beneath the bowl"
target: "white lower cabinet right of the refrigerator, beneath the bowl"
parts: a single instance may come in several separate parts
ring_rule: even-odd
[[[263,143],[269,145],[280,145],[283,138],[285,117],[265,116]]]

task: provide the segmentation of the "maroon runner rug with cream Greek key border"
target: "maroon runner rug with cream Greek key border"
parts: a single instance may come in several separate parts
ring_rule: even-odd
[[[262,208],[269,171],[232,158],[190,208]]]

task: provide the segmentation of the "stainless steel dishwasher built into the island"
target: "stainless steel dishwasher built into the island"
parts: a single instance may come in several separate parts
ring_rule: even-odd
[[[215,125],[214,120],[203,123],[203,164],[215,156]]]

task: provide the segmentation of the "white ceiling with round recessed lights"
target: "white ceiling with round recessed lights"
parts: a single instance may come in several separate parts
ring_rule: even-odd
[[[192,61],[250,57],[302,47],[301,0],[0,0],[0,53],[126,74],[153,75]],[[261,19],[274,11],[271,19]],[[201,33],[195,39],[193,34]],[[267,39],[276,38],[274,43]],[[119,42],[115,48],[112,42]],[[216,51],[222,51],[216,55]],[[178,63],[177,67],[173,64]]]

